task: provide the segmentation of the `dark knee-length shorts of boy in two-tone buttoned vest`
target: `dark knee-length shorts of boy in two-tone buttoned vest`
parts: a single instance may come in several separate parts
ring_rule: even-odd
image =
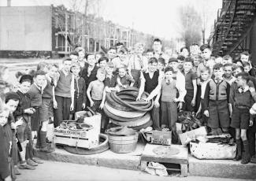
[[[228,128],[230,124],[227,100],[209,102],[208,126],[213,129]]]

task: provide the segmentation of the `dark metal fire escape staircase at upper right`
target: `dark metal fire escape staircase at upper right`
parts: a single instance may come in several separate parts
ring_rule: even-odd
[[[210,37],[213,54],[237,54],[248,50],[247,39],[256,23],[256,0],[223,0]]]

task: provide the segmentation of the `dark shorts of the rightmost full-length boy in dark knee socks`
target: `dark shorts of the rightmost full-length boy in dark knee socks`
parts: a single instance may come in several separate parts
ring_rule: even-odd
[[[232,112],[231,127],[249,129],[250,109],[238,109],[234,107]]]

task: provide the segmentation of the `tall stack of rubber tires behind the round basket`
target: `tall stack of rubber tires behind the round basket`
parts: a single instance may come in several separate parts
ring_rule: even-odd
[[[154,103],[152,100],[143,101],[143,98],[148,96],[146,92],[143,93],[141,100],[136,101],[138,94],[139,89],[135,87],[106,94],[104,112],[113,124],[131,127],[138,131],[153,124],[149,111]]]

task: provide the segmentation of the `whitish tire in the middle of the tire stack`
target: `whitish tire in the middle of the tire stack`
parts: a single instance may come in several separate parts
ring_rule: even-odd
[[[106,107],[106,109],[114,114],[114,115],[117,115],[119,117],[125,117],[125,118],[136,118],[136,117],[139,117],[139,116],[143,116],[146,111],[133,111],[133,112],[128,112],[128,111],[121,111],[121,110],[117,110],[117,109],[114,109],[113,107],[111,107],[109,105],[108,102],[105,103],[104,107]]]

